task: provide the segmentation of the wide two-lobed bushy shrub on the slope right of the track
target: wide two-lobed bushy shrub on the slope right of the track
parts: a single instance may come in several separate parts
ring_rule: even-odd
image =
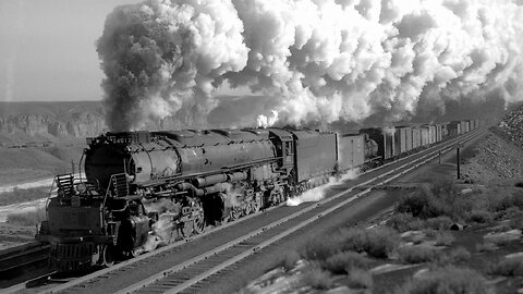
[[[376,258],[386,258],[400,243],[398,232],[387,226],[344,230],[340,240],[342,250],[365,252]]]

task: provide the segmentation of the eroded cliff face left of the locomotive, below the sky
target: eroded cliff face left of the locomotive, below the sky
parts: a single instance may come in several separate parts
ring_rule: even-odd
[[[0,102],[0,143],[96,136],[106,131],[100,101]]]

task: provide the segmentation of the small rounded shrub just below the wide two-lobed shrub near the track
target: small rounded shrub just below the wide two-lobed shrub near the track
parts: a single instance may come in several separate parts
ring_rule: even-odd
[[[320,265],[335,274],[346,274],[354,269],[368,269],[370,260],[356,252],[342,252],[327,258]]]

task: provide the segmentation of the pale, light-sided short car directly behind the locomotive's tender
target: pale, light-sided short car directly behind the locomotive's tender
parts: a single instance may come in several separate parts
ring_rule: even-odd
[[[365,162],[365,135],[340,134],[338,136],[339,170],[346,171]]]

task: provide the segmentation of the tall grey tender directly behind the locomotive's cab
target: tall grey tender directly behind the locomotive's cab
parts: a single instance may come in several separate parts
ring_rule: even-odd
[[[291,131],[295,139],[297,182],[335,172],[337,164],[337,134],[331,132]]]

